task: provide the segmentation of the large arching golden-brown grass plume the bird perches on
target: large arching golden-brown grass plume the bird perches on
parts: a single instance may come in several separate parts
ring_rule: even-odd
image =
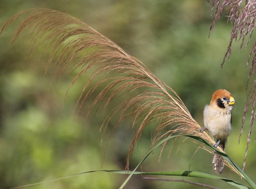
[[[112,99],[123,93],[130,94],[106,116],[102,125],[106,127],[111,118],[119,113],[114,131],[121,120],[132,117],[131,127],[135,132],[127,153],[126,169],[129,168],[136,142],[150,123],[155,125],[152,145],[174,133],[194,135],[215,143],[206,132],[199,132],[200,125],[171,87],[160,81],[140,60],[127,54],[102,34],[69,15],[49,9],[31,9],[14,15],[0,29],[0,34],[21,16],[25,18],[12,42],[28,36],[31,52],[35,51],[34,47],[47,44],[45,51],[50,52],[50,57],[46,72],[54,70],[54,75],[60,75],[66,69],[80,69],[70,82],[70,89],[81,75],[92,71],[81,90],[75,110],[80,111],[88,97],[102,85],[105,87],[95,97],[91,109],[104,99],[106,108]],[[92,81],[96,79],[97,82],[93,84]],[[226,164],[231,166],[228,162]]]

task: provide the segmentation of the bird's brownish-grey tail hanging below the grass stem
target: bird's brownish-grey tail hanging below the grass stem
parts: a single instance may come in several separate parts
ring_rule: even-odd
[[[222,140],[220,141],[220,147],[225,151],[225,144],[226,144],[226,140]],[[212,159],[212,164],[213,164],[213,170],[217,173],[217,174],[221,174],[225,162],[223,157],[221,157],[216,151],[214,152],[214,156]]]

